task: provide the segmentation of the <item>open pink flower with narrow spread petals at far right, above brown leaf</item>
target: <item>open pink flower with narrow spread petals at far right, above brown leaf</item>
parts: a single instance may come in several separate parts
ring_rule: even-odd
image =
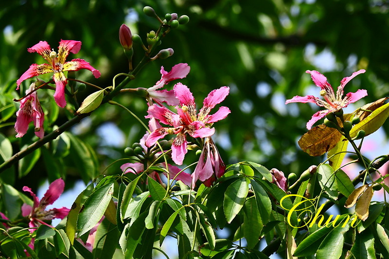
[[[324,100],[321,100],[315,96],[307,95],[304,97],[301,96],[295,96],[292,99],[286,100],[285,104],[289,103],[314,103],[318,106],[325,107],[326,110],[321,110],[315,113],[312,116],[312,119],[307,122],[307,129],[310,130],[312,128],[312,125],[329,114],[330,112],[334,112],[337,110],[340,110],[341,108],[347,107],[347,105],[355,103],[359,99],[365,97],[368,95],[367,91],[364,89],[359,89],[355,93],[347,93],[346,96],[343,98],[343,88],[346,86],[346,84],[353,79],[356,75],[366,72],[366,70],[361,69],[356,72],[354,72],[351,76],[345,77],[340,81],[340,86],[337,87],[336,96],[334,93],[334,89],[332,86],[327,82],[327,78],[315,70],[307,70],[307,73],[311,74],[312,80],[315,83],[316,86],[321,88],[320,96],[324,98]]]

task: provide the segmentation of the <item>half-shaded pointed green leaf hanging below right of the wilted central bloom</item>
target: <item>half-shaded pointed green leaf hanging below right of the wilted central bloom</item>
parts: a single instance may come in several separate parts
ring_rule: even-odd
[[[247,178],[240,178],[227,187],[224,193],[223,208],[228,223],[231,223],[245,203],[248,194],[248,181]]]

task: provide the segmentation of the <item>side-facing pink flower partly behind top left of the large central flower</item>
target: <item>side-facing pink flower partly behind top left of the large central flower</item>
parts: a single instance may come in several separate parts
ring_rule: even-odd
[[[157,102],[158,104],[162,104],[163,102],[168,105],[178,105],[179,101],[174,95],[173,90],[157,90],[170,81],[185,78],[189,70],[191,68],[186,63],[180,63],[175,65],[170,72],[166,72],[163,67],[161,67],[160,73],[161,73],[161,79],[155,84],[155,86],[150,87],[147,89],[147,92],[149,94],[149,97]]]

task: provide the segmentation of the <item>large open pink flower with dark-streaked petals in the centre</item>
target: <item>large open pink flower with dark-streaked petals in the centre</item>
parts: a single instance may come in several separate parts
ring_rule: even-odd
[[[204,99],[204,105],[198,114],[196,114],[195,98],[187,86],[177,83],[174,86],[174,92],[181,106],[176,106],[178,114],[156,104],[148,108],[149,115],[146,118],[155,118],[165,125],[173,126],[173,128],[161,127],[154,130],[147,137],[146,146],[154,145],[167,134],[177,134],[172,144],[172,158],[177,165],[182,165],[184,156],[187,153],[186,135],[193,138],[210,137],[215,132],[215,129],[211,128],[211,124],[225,119],[230,114],[230,109],[222,106],[217,112],[209,115],[211,109],[227,97],[230,88],[223,86],[210,92]]]

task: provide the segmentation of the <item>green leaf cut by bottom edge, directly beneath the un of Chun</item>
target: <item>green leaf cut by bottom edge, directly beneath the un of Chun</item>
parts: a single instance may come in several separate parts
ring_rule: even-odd
[[[350,228],[350,223],[344,227],[337,226],[321,242],[316,259],[338,259],[342,255],[344,233]]]

